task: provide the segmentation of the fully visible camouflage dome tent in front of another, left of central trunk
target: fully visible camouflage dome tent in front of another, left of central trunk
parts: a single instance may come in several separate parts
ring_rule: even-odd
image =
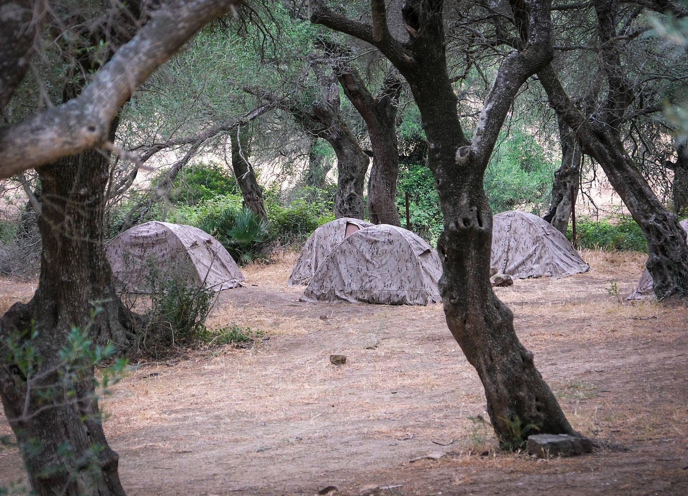
[[[378,224],[356,231],[321,261],[300,301],[427,305],[440,301],[440,257],[411,231]]]

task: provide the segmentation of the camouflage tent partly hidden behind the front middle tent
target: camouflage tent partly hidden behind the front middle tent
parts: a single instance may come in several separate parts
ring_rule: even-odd
[[[370,222],[365,222],[365,220],[341,217],[327,222],[327,224],[323,224],[314,230],[308,241],[305,242],[297,262],[294,263],[294,268],[287,280],[287,284],[290,286],[308,285],[308,281],[313,277],[327,253],[347,237],[347,226],[351,233],[352,231],[355,232],[372,225]]]

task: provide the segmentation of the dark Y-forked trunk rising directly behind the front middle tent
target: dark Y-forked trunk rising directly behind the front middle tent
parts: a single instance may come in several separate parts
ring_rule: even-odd
[[[396,70],[390,68],[378,95],[373,97],[353,67],[338,68],[337,72],[344,94],[365,120],[373,149],[373,165],[368,179],[370,222],[400,226],[394,202],[399,173],[395,121],[402,80]]]

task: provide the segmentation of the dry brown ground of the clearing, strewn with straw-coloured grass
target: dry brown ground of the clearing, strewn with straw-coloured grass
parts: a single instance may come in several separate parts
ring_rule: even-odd
[[[248,267],[211,318],[269,340],[142,363],[102,401],[127,494],[687,495],[688,309],[610,294],[612,279],[632,291],[642,255],[584,257],[586,274],[497,292],[574,428],[605,443],[592,455],[495,453],[469,419],[486,416],[484,393],[441,305],[299,303],[287,255]],[[32,290],[0,284],[0,310]],[[411,462],[428,453],[448,455]],[[19,477],[17,451],[0,453],[0,487]]]

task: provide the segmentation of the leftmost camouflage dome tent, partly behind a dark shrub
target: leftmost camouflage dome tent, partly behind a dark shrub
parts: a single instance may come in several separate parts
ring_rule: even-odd
[[[114,237],[105,249],[116,283],[129,292],[151,292],[151,278],[182,277],[191,287],[215,291],[244,281],[217,239],[193,226],[152,221]]]

